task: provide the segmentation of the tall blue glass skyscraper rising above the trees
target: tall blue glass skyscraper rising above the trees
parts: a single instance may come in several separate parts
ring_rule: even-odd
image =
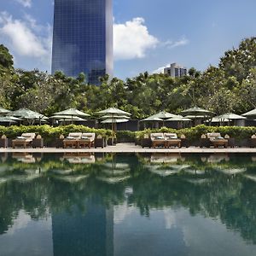
[[[77,77],[90,84],[113,75],[112,0],[55,0],[52,73]]]

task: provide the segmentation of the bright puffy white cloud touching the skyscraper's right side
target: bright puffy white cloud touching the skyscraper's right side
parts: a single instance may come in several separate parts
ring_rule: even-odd
[[[134,18],[125,24],[113,25],[113,52],[116,60],[143,58],[148,49],[154,49],[160,42],[150,35],[143,18]]]

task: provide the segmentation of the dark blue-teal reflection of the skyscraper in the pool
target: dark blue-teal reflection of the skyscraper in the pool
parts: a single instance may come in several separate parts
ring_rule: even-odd
[[[92,201],[52,214],[55,256],[113,255],[113,209]]]

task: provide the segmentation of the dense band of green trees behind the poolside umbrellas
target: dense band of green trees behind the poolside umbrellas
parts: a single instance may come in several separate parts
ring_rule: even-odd
[[[182,78],[147,72],[126,80],[106,75],[96,86],[86,83],[84,73],[70,78],[61,72],[14,69],[13,64],[9,50],[0,45],[3,108],[30,108],[51,115],[65,108],[95,113],[117,107],[133,118],[145,118],[160,110],[179,113],[193,106],[218,114],[244,113],[256,106],[256,38],[246,38],[237,49],[226,51],[218,67],[204,72],[192,67]]]

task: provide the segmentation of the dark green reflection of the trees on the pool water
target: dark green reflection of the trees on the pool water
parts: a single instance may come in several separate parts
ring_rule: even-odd
[[[151,166],[157,172],[150,172]],[[241,166],[247,172],[232,174]],[[71,164],[49,156],[31,164],[8,159],[0,164],[0,233],[9,229],[20,209],[37,219],[49,212],[72,212],[74,206],[86,212],[84,201],[97,198],[107,208],[127,201],[145,216],[152,208],[185,207],[192,215],[220,218],[229,229],[256,242],[256,183],[248,178],[253,177],[254,166],[249,158],[240,156],[229,161],[188,156],[174,163],[150,164],[135,155],[120,154],[94,165]],[[38,176],[31,178],[39,168]],[[160,175],[161,170],[174,169],[170,176]],[[119,178],[126,176],[129,178]],[[119,182],[108,183],[99,177],[118,177]],[[125,195],[127,187],[133,193]]]

